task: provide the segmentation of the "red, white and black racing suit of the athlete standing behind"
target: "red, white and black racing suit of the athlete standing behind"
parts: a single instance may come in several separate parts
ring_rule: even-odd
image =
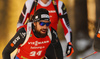
[[[24,8],[23,8],[23,11],[21,12],[17,27],[20,27],[20,26],[26,24],[30,15],[34,14],[34,7],[32,7],[33,2],[34,2],[34,0],[27,0],[26,1]],[[66,38],[67,42],[71,42],[72,41],[71,28],[69,26],[69,20],[68,20],[65,5],[63,2],[61,2],[59,0],[56,0],[56,3],[57,3],[59,17],[57,16],[57,13],[56,13],[56,10],[54,8],[52,0],[49,0],[46,4],[44,4],[41,0],[39,0],[38,4],[36,6],[36,10],[39,8],[45,8],[49,11],[49,16],[50,16],[50,20],[51,20],[50,27],[53,27],[56,31],[57,31],[57,27],[58,27],[58,21],[60,18],[61,24],[62,24],[63,29],[64,29],[65,38]]]

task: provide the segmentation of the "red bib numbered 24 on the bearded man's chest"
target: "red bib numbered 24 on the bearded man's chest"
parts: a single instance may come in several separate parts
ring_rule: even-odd
[[[23,27],[27,31],[27,25],[24,25]],[[49,36],[37,38],[32,29],[30,31],[30,34],[27,34],[29,37],[26,36],[24,43],[18,48],[17,57],[20,59],[43,59],[45,57],[46,49],[51,43],[51,39]]]

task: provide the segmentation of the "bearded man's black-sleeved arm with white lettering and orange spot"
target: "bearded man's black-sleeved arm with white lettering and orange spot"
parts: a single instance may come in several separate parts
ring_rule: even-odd
[[[8,42],[2,52],[3,59],[11,59],[10,54],[24,42],[26,37],[26,31],[24,28],[19,29],[15,36]]]

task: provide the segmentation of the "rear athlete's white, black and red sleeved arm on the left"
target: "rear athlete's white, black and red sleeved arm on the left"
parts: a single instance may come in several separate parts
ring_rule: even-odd
[[[24,4],[23,10],[20,14],[20,17],[17,23],[17,28],[24,25],[27,22],[27,19],[30,16],[30,11],[33,5],[33,1],[34,0],[27,0],[26,3]]]

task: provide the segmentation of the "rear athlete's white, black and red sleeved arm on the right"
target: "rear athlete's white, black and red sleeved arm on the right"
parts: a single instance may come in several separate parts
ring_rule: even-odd
[[[59,9],[59,14],[60,14],[60,21],[64,29],[64,34],[67,42],[72,42],[72,30],[69,25],[69,19],[68,15],[66,12],[66,7],[63,2],[59,1],[58,2],[58,9]]]

